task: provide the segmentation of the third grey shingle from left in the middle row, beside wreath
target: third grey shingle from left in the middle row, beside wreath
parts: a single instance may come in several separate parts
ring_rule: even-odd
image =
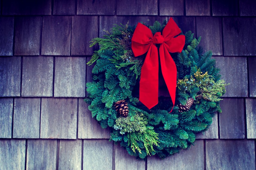
[[[54,97],[85,97],[86,57],[55,57]]]

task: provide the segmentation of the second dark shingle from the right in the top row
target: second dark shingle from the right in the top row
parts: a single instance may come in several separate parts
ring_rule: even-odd
[[[238,0],[223,1],[212,0],[213,16],[237,16],[239,15]]]

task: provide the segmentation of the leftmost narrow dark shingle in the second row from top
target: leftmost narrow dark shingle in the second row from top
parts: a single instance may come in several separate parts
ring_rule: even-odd
[[[13,17],[0,17],[0,56],[13,55]]]

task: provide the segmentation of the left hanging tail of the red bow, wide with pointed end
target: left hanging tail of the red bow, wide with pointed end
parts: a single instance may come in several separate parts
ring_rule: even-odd
[[[151,109],[158,103],[158,50],[151,45],[141,68],[139,100]]]

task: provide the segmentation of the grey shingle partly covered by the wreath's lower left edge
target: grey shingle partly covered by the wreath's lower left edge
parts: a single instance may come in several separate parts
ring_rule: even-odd
[[[110,129],[102,129],[98,121],[91,117],[88,104],[80,98],[78,105],[78,138],[109,139]]]

